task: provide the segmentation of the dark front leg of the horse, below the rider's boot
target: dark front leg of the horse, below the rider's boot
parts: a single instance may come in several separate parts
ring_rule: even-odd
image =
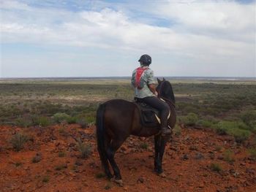
[[[165,145],[168,140],[168,136],[162,137],[157,135],[154,137],[154,147],[155,147],[155,158],[154,158],[154,171],[157,174],[162,174],[162,156],[165,153]]]

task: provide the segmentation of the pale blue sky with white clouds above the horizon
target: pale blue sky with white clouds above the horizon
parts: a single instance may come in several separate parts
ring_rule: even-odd
[[[0,78],[256,77],[255,0],[0,0]]]

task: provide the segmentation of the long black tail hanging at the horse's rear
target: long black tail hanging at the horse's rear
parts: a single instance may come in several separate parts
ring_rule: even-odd
[[[108,164],[108,158],[105,150],[105,127],[104,127],[105,104],[100,104],[97,110],[96,126],[97,126],[97,148],[102,164]]]

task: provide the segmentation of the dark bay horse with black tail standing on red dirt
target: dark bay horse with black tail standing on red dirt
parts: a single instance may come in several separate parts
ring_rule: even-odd
[[[173,128],[176,124],[175,97],[172,85],[165,80],[157,78],[157,93],[159,99],[165,100],[170,107],[170,118],[168,125]],[[162,156],[165,145],[170,139],[170,135],[162,136],[160,127],[144,127],[140,120],[140,110],[137,104],[124,99],[112,99],[100,104],[97,109],[97,150],[105,175],[114,180],[119,185],[123,185],[120,170],[114,159],[115,153],[129,135],[138,137],[154,136],[154,172],[162,174]],[[110,165],[113,174],[110,172]]]

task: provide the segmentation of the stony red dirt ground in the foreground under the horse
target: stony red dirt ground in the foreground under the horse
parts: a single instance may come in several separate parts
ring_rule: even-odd
[[[1,126],[0,191],[256,191],[256,161],[247,153],[251,143],[236,145],[231,137],[196,128],[182,128],[181,135],[173,136],[167,144],[163,161],[166,177],[153,172],[153,138],[129,137],[116,153],[124,181],[120,187],[100,177],[94,129],[78,125]],[[31,139],[23,150],[15,152],[10,139],[18,131]],[[87,159],[80,158],[74,139],[79,137],[93,147]],[[233,151],[235,161],[223,158],[227,149]],[[59,157],[59,152],[64,152],[64,157]],[[42,159],[33,163],[37,153]],[[211,170],[212,163],[222,170]]]

